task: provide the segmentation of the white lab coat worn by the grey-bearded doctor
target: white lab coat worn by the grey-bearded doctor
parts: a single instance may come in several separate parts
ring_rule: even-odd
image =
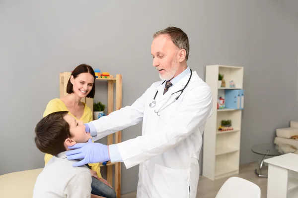
[[[99,139],[143,120],[142,136],[118,144],[126,168],[140,164],[137,198],[196,197],[202,134],[212,114],[210,87],[194,71],[180,98],[159,112],[160,116],[154,112],[184,87],[189,76],[165,95],[163,81],[153,83],[131,106],[92,121]],[[156,106],[149,107],[156,90]]]

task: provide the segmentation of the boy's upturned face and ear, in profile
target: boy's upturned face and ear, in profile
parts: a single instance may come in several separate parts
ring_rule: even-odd
[[[72,134],[72,138],[68,138],[65,140],[67,146],[73,146],[76,143],[86,143],[91,137],[90,133],[86,132],[86,127],[82,121],[76,120],[70,114],[64,116],[64,119],[70,125],[70,132]]]

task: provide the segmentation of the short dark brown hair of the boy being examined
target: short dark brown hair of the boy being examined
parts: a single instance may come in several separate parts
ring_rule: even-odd
[[[42,118],[35,127],[34,141],[36,147],[51,155],[66,150],[64,141],[71,138],[69,123],[63,118],[68,111],[58,111]]]

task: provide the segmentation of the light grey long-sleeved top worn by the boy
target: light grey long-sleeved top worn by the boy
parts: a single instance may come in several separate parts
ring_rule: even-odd
[[[73,167],[66,151],[53,156],[38,175],[33,198],[90,198],[91,173],[86,166]]]

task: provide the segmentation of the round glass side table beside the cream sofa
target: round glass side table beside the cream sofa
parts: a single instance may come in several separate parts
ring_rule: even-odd
[[[262,175],[262,167],[266,156],[278,156],[278,155],[282,155],[290,152],[295,152],[296,150],[297,150],[296,147],[292,145],[286,145],[286,144],[277,145],[274,143],[265,143],[265,144],[259,144],[259,145],[253,146],[251,148],[252,152],[259,155],[263,155],[263,158],[259,164],[259,168],[255,169],[255,174],[258,177],[265,177],[265,178],[268,177],[267,175]]]

